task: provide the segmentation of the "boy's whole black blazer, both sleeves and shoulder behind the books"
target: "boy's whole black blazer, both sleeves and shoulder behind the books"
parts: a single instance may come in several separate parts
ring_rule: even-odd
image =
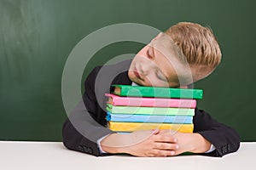
[[[84,82],[83,100],[73,109],[62,127],[63,144],[70,150],[78,150],[94,156],[103,156],[96,141],[114,133],[106,125],[106,98],[113,92],[112,84],[131,85],[128,77],[131,60],[115,65],[96,66]],[[224,156],[235,152],[240,146],[240,137],[231,127],[217,122],[206,111],[195,109],[194,133],[200,133],[216,150],[201,154]],[[108,154],[107,154],[108,155]]]

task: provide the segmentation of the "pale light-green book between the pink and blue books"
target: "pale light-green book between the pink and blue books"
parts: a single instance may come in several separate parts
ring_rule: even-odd
[[[172,107],[134,107],[107,104],[107,111],[114,114],[195,116],[195,109]]]

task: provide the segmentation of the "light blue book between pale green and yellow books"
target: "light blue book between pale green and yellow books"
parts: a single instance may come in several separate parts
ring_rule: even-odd
[[[193,116],[158,116],[158,115],[132,115],[107,113],[107,121],[112,122],[169,122],[178,124],[192,124]]]

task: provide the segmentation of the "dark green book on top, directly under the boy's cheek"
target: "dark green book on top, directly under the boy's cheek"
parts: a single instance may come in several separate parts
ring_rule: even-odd
[[[160,88],[130,85],[112,85],[113,94],[131,97],[202,99],[203,90],[189,88]]]

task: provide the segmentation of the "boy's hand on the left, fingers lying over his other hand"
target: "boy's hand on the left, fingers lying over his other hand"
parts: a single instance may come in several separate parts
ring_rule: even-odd
[[[102,150],[108,153],[127,153],[133,156],[173,156],[177,139],[159,129],[137,131],[129,134],[113,133],[102,140]]]

